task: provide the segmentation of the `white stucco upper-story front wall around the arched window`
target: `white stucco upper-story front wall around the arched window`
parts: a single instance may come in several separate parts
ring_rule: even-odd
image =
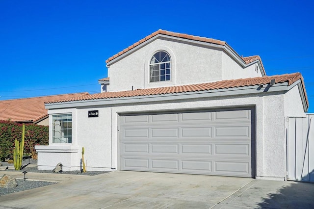
[[[157,51],[166,51],[171,57],[171,81],[149,82],[149,63]],[[221,80],[221,53],[176,41],[154,40],[110,65],[110,91]]]

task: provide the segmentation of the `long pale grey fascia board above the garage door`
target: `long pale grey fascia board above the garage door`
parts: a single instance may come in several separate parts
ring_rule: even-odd
[[[228,88],[228,89],[214,89],[214,90],[208,90],[208,91],[171,93],[171,94],[149,95],[149,96],[121,97],[121,98],[109,98],[109,99],[95,99],[95,100],[84,100],[84,101],[71,101],[71,102],[63,102],[63,103],[45,104],[45,107],[46,109],[62,109],[62,108],[71,108],[71,107],[82,107],[82,106],[188,100],[188,99],[197,99],[197,98],[236,96],[236,95],[243,95],[243,94],[267,94],[269,92],[279,92],[279,91],[288,91],[288,82],[277,83],[271,86],[265,85],[262,88],[260,88],[260,85],[255,85],[255,86]]]

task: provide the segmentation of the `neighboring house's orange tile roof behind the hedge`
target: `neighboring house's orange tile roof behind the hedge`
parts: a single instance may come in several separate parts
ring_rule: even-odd
[[[35,122],[48,115],[45,102],[64,100],[78,96],[88,95],[85,93],[61,94],[45,97],[33,97],[15,100],[0,101],[0,120],[13,122]]]

